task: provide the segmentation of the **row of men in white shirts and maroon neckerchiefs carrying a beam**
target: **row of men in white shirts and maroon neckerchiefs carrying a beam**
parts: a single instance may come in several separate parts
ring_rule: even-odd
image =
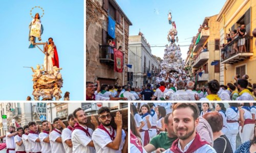
[[[116,113],[114,121],[117,129],[111,126],[112,116],[108,107],[98,110],[98,121],[92,115],[93,131],[87,127],[88,119],[81,108],[77,108],[67,117],[69,125],[60,118],[53,123],[47,120],[36,125],[30,121],[24,127],[9,127],[6,134],[7,153],[61,153],[61,152],[127,152],[127,132],[122,130],[122,114]]]

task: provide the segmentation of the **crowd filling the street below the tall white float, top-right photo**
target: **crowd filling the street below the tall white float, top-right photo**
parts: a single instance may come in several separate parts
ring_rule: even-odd
[[[166,82],[161,81],[154,88],[152,84],[136,88],[87,82],[87,100],[256,100],[256,83],[249,83],[247,74],[242,78],[236,75],[234,79],[237,82],[234,84],[227,83],[225,86],[212,80],[202,88],[196,87],[194,81],[167,74]]]

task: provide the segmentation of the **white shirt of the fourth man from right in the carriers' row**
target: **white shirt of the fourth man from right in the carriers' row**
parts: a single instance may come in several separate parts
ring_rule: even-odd
[[[55,130],[57,130],[57,129],[55,129]],[[57,131],[59,131],[59,130],[57,130]],[[50,144],[51,144],[52,153],[62,153],[62,152],[65,153],[65,149],[63,147],[63,144],[56,142],[56,139],[58,137],[61,137],[61,134],[57,133],[56,131],[53,130],[50,133],[49,138],[50,138]]]

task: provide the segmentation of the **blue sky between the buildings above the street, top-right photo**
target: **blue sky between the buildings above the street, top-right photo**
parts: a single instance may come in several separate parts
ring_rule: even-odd
[[[191,38],[196,36],[199,25],[205,17],[220,12],[225,0],[116,0],[126,16],[132,21],[130,36],[138,35],[139,29],[151,46],[169,44],[167,33],[172,28],[168,24],[168,12],[172,12],[176,23],[180,45],[189,45]],[[189,38],[189,39],[186,39]],[[163,59],[165,47],[151,47],[152,54]],[[181,47],[182,58],[186,58],[188,46]]]

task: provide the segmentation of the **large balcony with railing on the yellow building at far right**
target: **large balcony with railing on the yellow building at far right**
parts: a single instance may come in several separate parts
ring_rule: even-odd
[[[228,45],[226,45],[222,49],[222,53],[224,55],[221,55],[221,64],[234,64],[239,63],[241,61],[244,61],[244,59],[247,59],[251,56],[253,56],[252,52],[252,37],[246,36],[244,38],[245,40],[245,49],[239,52],[239,39],[236,38],[231,41]]]

